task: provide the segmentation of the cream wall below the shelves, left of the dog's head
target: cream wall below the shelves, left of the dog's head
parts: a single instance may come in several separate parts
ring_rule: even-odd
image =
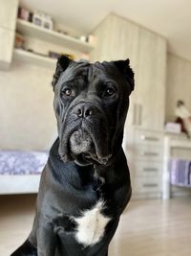
[[[56,130],[52,77],[52,69],[16,61],[0,71],[0,149],[47,149]]]

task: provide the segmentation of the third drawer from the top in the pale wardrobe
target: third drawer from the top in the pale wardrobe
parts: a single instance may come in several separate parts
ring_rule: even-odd
[[[138,162],[133,170],[134,176],[156,177],[162,174],[162,164],[152,162]]]

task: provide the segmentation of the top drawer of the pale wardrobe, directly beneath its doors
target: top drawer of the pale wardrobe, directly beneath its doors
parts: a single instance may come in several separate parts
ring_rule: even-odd
[[[135,142],[136,144],[142,145],[159,145],[163,144],[163,134],[156,131],[148,130],[136,130],[135,133]]]

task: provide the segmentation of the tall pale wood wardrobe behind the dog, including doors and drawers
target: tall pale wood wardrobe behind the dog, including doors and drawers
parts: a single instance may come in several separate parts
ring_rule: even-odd
[[[166,40],[116,14],[97,27],[93,60],[130,58],[135,91],[124,128],[123,149],[135,198],[160,198],[165,109]]]

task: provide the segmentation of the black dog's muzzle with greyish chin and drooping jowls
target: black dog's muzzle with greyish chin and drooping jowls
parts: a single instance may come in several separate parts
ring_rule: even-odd
[[[95,105],[80,103],[69,109],[60,140],[60,155],[68,159],[106,164],[108,152],[107,119]]]

